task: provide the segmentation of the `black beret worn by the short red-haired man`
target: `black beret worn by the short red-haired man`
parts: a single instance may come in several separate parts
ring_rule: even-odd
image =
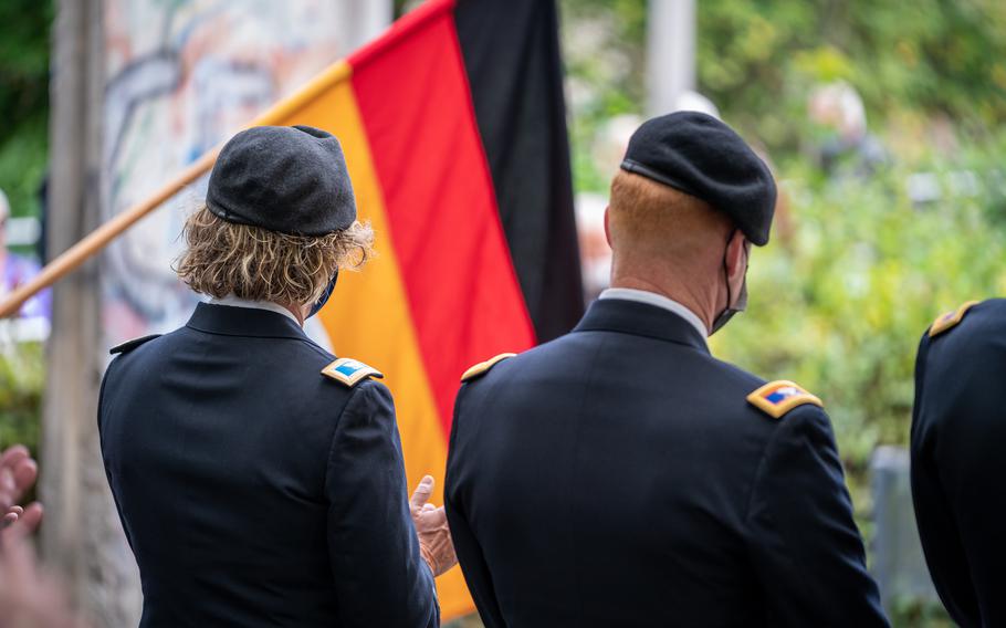
[[[647,121],[632,138],[623,170],[700,198],[762,247],[775,212],[775,180],[754,150],[719,119],[678,112]]]

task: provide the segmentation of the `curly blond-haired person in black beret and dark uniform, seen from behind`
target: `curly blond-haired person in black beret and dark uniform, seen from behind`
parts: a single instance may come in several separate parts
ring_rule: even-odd
[[[98,406],[142,626],[437,626],[432,479],[407,502],[381,375],[302,329],[370,254],[338,140],[238,134],[185,236],[178,274],[211,300],[112,349]]]

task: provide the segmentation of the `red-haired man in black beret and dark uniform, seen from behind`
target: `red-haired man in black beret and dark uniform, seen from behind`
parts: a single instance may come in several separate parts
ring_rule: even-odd
[[[887,625],[820,400],[706,346],[775,197],[723,123],[647,122],[611,186],[612,287],[463,376],[446,506],[486,626]]]

